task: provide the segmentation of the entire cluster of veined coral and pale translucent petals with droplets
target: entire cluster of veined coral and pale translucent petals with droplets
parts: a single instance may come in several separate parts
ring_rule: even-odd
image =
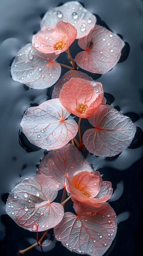
[[[117,155],[130,145],[136,127],[129,117],[106,104],[102,84],[77,71],[70,55],[68,48],[79,39],[84,51],[75,61],[82,69],[104,74],[117,64],[124,42],[95,23],[96,17],[79,2],[56,7],[45,14],[41,30],[32,43],[20,49],[11,65],[12,78],[30,88],[57,83],[51,100],[30,107],[22,117],[21,126],[29,141],[50,152],[40,162],[37,175],[22,180],[11,191],[6,211],[30,231],[54,227],[55,237],[70,251],[101,256],[117,231],[116,214],[106,202],[112,195],[112,184],[103,181],[79,151],[85,146],[100,157]],[[62,52],[68,54],[73,67],[55,61]],[[59,79],[61,66],[71,70]],[[79,125],[70,114],[79,117]],[[82,138],[81,118],[93,126]],[[60,189],[70,193],[77,215],[64,213],[66,200],[53,202]]]

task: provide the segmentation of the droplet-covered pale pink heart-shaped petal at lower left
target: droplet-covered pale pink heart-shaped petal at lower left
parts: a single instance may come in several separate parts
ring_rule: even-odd
[[[6,211],[20,227],[44,231],[55,227],[64,216],[62,205],[51,203],[56,197],[55,182],[44,175],[35,175],[15,186],[8,197]]]

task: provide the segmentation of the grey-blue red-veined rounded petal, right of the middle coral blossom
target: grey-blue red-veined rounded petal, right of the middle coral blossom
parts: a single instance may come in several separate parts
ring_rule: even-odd
[[[95,128],[84,132],[83,142],[89,152],[100,157],[121,153],[130,145],[136,132],[129,117],[108,105],[100,105],[88,121]]]

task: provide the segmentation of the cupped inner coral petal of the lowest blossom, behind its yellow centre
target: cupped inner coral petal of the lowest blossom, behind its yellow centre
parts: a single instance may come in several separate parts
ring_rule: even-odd
[[[94,198],[100,189],[100,178],[92,173],[83,171],[74,175],[71,184],[81,193],[88,193],[90,197]]]

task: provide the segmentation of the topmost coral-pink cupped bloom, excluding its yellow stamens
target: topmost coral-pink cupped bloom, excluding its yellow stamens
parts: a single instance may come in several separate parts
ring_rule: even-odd
[[[55,52],[57,55],[66,51],[73,43],[76,36],[77,29],[75,29],[73,25],[65,21],[59,21],[55,27],[43,27],[33,36],[32,43],[40,52],[48,54]],[[56,50],[54,49],[54,44],[60,39],[62,39],[63,43],[66,42],[66,45],[63,49]]]

